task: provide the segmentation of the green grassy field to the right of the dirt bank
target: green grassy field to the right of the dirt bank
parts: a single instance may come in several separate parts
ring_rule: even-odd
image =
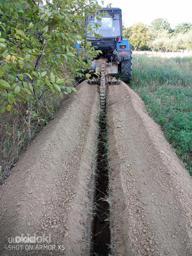
[[[130,87],[192,176],[192,58],[133,56]]]

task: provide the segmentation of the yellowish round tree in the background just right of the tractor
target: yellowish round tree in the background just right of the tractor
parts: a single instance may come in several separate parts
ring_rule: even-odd
[[[136,49],[146,47],[153,38],[150,30],[143,23],[136,23],[130,28],[130,44]]]

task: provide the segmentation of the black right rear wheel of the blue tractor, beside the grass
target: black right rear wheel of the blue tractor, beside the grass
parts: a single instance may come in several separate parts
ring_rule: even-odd
[[[121,79],[130,83],[132,77],[132,46],[130,45],[130,58],[121,60]]]

